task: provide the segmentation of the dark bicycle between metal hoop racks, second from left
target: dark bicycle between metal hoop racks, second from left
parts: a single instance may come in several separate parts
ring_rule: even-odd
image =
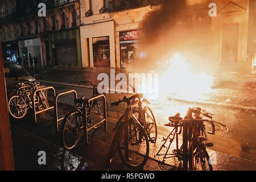
[[[63,146],[67,150],[73,150],[77,146],[81,139],[82,129],[84,129],[85,126],[86,128],[94,126],[94,129],[100,127],[100,124],[93,124],[92,115],[95,114],[94,117],[98,116],[100,119],[103,119],[104,109],[107,110],[108,107],[108,102],[106,102],[106,107],[104,107],[105,103],[100,105],[99,99],[88,102],[88,99],[85,99],[85,96],[75,99],[74,102],[76,105],[75,107],[69,111],[66,110],[63,112],[66,115],[63,119],[61,140]],[[102,110],[100,109],[100,106],[103,106]],[[93,108],[96,108],[96,110],[93,110]],[[107,116],[107,113],[105,114]]]

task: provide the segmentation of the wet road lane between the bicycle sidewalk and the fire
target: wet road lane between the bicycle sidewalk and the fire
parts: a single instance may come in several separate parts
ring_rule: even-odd
[[[47,85],[56,88],[57,92],[75,89],[79,97],[86,96],[89,98],[92,96],[92,90],[88,88],[76,88],[49,83],[47,83]],[[118,101],[119,98],[123,96],[125,96],[125,94],[107,94],[106,99],[111,103]],[[127,94],[127,96],[129,96],[129,94]],[[51,100],[51,93],[49,93],[49,99]],[[71,104],[72,101],[73,95],[68,94],[61,96],[58,102]],[[161,103],[151,101],[149,106],[154,112],[156,122],[158,122],[158,129],[162,131],[168,131],[164,124],[168,122],[167,120],[170,115],[175,115],[179,112],[181,116],[184,116],[187,113],[188,107],[200,106],[209,110],[214,114],[213,119],[216,125],[216,135],[208,136],[216,143],[213,149],[229,155],[256,161],[256,113],[254,111],[176,100],[166,100]],[[112,107],[110,111],[109,117],[117,119],[122,115],[123,106]]]

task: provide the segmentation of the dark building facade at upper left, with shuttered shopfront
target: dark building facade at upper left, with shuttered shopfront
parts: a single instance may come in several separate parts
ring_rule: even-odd
[[[39,3],[45,3],[46,16],[38,15]],[[0,34],[5,60],[19,54],[24,66],[33,66],[26,61],[31,55],[38,57],[40,67],[81,68],[79,26],[80,3],[76,0],[0,2]],[[8,46],[18,47],[18,50]]]

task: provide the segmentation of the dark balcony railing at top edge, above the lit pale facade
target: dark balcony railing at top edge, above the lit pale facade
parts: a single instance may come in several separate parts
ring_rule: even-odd
[[[106,7],[109,13],[135,9],[148,6],[150,3],[147,0],[112,0],[106,1]]]

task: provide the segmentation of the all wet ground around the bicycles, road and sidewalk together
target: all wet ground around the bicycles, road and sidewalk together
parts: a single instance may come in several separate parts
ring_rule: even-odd
[[[46,72],[45,72],[46,71]],[[90,78],[92,81],[97,79],[97,72],[77,72],[77,71],[52,71],[33,69],[31,75],[38,73],[44,76],[43,82],[47,86],[53,86],[57,93],[64,92],[70,89],[75,89],[78,96],[92,96],[92,90],[79,86],[72,86],[81,80]],[[63,77],[65,75],[65,77]],[[71,85],[53,84],[52,82],[68,83]],[[161,103],[151,101],[156,122],[158,123],[159,139],[156,145],[150,146],[150,159],[144,166],[143,170],[177,170],[179,163],[171,160],[168,165],[159,164],[160,159],[155,156],[159,150],[162,137],[166,137],[170,128],[164,126],[170,115],[175,115],[177,112],[184,116],[188,107],[200,106],[214,113],[214,123],[216,125],[216,135],[208,135],[209,142],[213,142],[214,146],[208,151],[212,156],[217,156],[217,163],[213,165],[216,170],[255,170],[256,169],[256,127],[255,127],[255,111],[245,109],[247,106],[254,107],[255,90],[246,88],[215,88],[218,90],[212,94],[208,102],[187,101],[180,98],[169,98],[169,100]],[[229,92],[230,91],[230,92]],[[253,95],[254,94],[254,95]],[[223,96],[226,97],[223,97]],[[123,94],[108,94],[108,102],[117,101],[122,98]],[[213,97],[214,96],[214,97]],[[52,93],[49,91],[49,101],[53,101]],[[203,98],[203,97],[202,97]],[[204,97],[207,98],[207,97]],[[236,99],[235,99],[236,98]],[[240,107],[232,107],[222,103],[228,103],[232,100],[233,105]],[[60,97],[59,117],[61,117],[61,109],[71,105],[73,95],[68,94]],[[224,102],[225,101],[225,102]],[[251,105],[245,103],[252,101]],[[220,105],[214,102],[221,103]],[[126,168],[118,155],[113,164],[107,166],[105,163],[108,153],[112,128],[119,118],[123,110],[122,106],[113,107],[110,109],[108,131],[93,130],[89,132],[89,144],[85,144],[84,139],[81,139],[79,146],[69,152],[63,149],[60,142],[60,134],[55,132],[55,123],[53,121],[53,111],[48,111],[46,114],[40,114],[38,123],[32,122],[31,115],[24,118],[22,121],[11,119],[11,130],[13,137],[14,158],[16,169],[49,169],[49,170],[129,170]],[[83,138],[83,137],[82,137]],[[40,141],[39,141],[40,140]],[[26,146],[26,147],[23,147]],[[38,151],[44,150],[48,156],[49,165],[39,166],[37,163]],[[211,152],[212,151],[212,152]],[[26,159],[26,160],[25,160]],[[31,159],[31,160],[29,160]],[[26,163],[26,161],[29,161]],[[25,165],[26,164],[26,165]]]

